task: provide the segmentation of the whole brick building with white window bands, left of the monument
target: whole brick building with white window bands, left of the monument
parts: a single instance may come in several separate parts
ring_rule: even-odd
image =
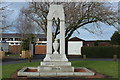
[[[9,52],[13,54],[19,54],[21,50],[21,34],[18,33],[3,33],[0,34],[0,42],[5,41],[9,44]],[[46,36],[44,34],[35,34],[36,36],[36,45],[35,52],[45,53],[41,45],[46,45]],[[42,51],[41,51],[42,49]],[[43,52],[44,51],[44,52]]]

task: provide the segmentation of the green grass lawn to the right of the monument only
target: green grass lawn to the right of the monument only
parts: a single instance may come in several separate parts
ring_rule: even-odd
[[[118,62],[115,61],[73,61],[74,67],[87,67],[99,73],[118,78]]]

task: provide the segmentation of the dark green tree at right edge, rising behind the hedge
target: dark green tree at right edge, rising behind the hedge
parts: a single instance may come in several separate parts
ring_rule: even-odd
[[[111,37],[111,44],[120,45],[120,34],[118,31],[115,31]]]

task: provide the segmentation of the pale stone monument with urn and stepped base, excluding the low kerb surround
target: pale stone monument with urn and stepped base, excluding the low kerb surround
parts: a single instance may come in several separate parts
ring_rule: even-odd
[[[53,18],[60,20],[60,53],[57,52],[59,43],[55,39],[52,43],[52,20]],[[52,46],[54,52],[52,53]],[[41,66],[39,67],[42,71],[66,71],[73,72],[74,67],[71,67],[71,62],[65,55],[65,15],[61,5],[51,5],[47,16],[47,54]]]

